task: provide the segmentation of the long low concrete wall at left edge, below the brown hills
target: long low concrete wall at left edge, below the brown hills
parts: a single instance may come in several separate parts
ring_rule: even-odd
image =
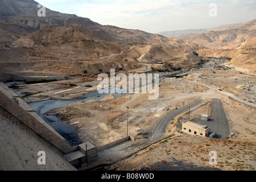
[[[2,82],[11,82],[11,81],[24,81],[24,80],[67,80],[66,76],[42,76],[42,77],[25,77],[14,75],[11,73],[1,73],[0,72],[0,81]]]

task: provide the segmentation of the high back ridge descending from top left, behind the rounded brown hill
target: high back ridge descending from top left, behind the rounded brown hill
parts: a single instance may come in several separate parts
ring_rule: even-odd
[[[13,22],[23,23],[27,26],[41,30],[47,27],[71,26],[81,24],[92,31],[101,40],[119,44],[151,44],[162,43],[179,48],[181,51],[194,51],[199,47],[194,43],[187,43],[180,40],[166,38],[158,34],[149,34],[140,30],[129,30],[115,26],[102,26],[88,18],[76,15],[62,14],[46,9],[46,16],[37,15],[38,3],[33,0],[9,1],[1,0],[0,18],[12,20]]]

